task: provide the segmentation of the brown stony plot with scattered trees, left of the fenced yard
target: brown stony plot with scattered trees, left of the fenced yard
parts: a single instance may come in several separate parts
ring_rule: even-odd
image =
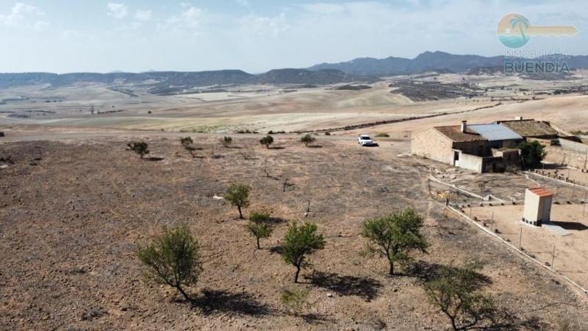
[[[423,160],[394,157],[388,146],[318,141],[305,148],[294,139],[276,136],[266,150],[253,138],[223,148],[217,138],[199,137],[202,150],[192,158],[179,141],[161,137],[148,139],[152,159],[143,160],[116,138],[0,144],[0,157],[10,158],[0,169],[0,329],[446,330],[422,275],[476,257],[487,263],[486,290],[500,308],[495,329],[569,323],[588,330],[582,294],[429,198],[428,173],[414,166]],[[245,214],[266,209],[278,219],[262,250],[236,209],[213,199],[230,183],[252,185]],[[359,228],[407,205],[427,215],[432,245],[414,257],[420,268],[387,277],[386,261],[366,253]],[[295,220],[316,222],[326,240],[298,285],[279,255]],[[202,246],[193,305],[145,281],[135,254],[161,225],[178,222]],[[280,301],[292,286],[310,290],[300,316]]]

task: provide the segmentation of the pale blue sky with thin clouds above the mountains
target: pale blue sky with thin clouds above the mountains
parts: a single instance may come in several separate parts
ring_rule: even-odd
[[[500,55],[496,23],[574,25],[532,51],[588,54],[581,0],[0,0],[0,72],[263,72],[425,50]]]

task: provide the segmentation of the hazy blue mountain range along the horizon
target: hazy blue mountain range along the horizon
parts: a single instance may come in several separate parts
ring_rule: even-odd
[[[387,57],[386,59],[361,58],[340,63],[321,63],[305,69],[275,69],[263,74],[249,74],[242,70],[213,70],[201,72],[110,72],[106,74],[77,72],[52,74],[26,72],[0,74],[0,88],[50,84],[72,86],[78,83],[150,86],[154,94],[178,94],[192,88],[234,86],[241,84],[299,84],[303,86],[334,83],[370,82],[379,77],[422,72],[465,72],[469,74],[500,72],[503,57],[456,55],[445,52],[424,52],[414,59]],[[531,61],[518,59],[517,61]],[[571,70],[588,68],[588,56],[565,59]]]

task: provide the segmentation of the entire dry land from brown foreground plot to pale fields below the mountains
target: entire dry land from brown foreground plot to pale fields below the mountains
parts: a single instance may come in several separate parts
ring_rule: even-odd
[[[478,328],[588,330],[584,292],[449,212],[430,194],[447,185],[429,176],[471,192],[483,181],[479,194],[504,201],[553,183],[472,174],[407,154],[412,132],[463,119],[522,116],[587,134],[588,95],[574,89],[588,86],[586,72],[545,81],[420,74],[366,84],[172,95],[141,84],[0,89],[0,330],[447,330],[424,284],[443,266],[471,259],[485,263],[480,290],[498,308]],[[265,148],[258,141],[270,131],[275,143]],[[300,142],[305,132],[316,137],[310,147]],[[380,134],[379,146],[358,146],[356,135],[365,133]],[[187,136],[195,157],[180,144]],[[234,139],[230,148],[223,136]],[[127,148],[139,139],[148,143],[145,159]],[[252,187],[245,217],[271,213],[274,231],[261,250],[220,197],[232,183]],[[568,187],[557,194],[578,202]],[[409,206],[423,215],[430,246],[389,277],[361,225]],[[575,219],[578,206],[558,206],[558,221],[587,225]],[[515,243],[508,236],[520,226],[520,205],[473,212],[483,219],[493,208]],[[294,221],[316,223],[325,237],[297,284],[282,258]],[[201,245],[203,271],[187,288],[193,303],[147,281],[136,256],[163,225],[180,223]],[[523,247],[543,263],[557,241],[556,271],[585,282],[587,231],[562,238],[548,231],[529,232]],[[286,289],[308,293],[297,314],[281,300]]]

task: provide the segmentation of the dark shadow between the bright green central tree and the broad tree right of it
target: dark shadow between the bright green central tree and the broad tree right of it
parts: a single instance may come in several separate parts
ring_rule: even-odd
[[[365,301],[372,301],[382,283],[367,277],[340,276],[335,273],[314,271],[304,277],[318,287],[332,290],[341,296],[361,297]]]

